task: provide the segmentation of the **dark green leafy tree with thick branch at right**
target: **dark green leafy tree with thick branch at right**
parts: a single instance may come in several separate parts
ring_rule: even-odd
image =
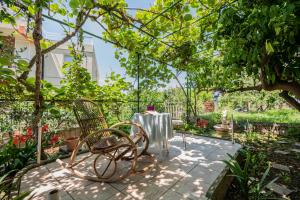
[[[279,90],[300,111],[299,1],[246,1],[226,6],[212,39],[223,70],[236,81],[229,91]],[[298,100],[297,100],[298,99]]]

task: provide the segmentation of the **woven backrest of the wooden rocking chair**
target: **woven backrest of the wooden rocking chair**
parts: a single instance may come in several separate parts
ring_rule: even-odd
[[[95,134],[86,141],[89,148],[102,137],[110,135],[109,132],[96,134],[99,130],[108,128],[108,125],[101,109],[94,102],[86,99],[77,99],[73,103],[73,111],[81,129],[80,139],[84,139],[90,134]]]

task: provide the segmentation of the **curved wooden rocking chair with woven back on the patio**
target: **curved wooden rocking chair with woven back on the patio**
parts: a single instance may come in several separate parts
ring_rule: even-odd
[[[81,136],[72,152],[69,163],[58,161],[60,164],[83,179],[101,182],[114,182],[125,178],[129,174],[146,171],[146,168],[140,171],[136,169],[137,159],[140,156],[147,155],[153,158],[147,152],[149,138],[139,124],[125,121],[108,127],[101,110],[89,100],[76,100],[73,104],[73,111],[81,129]],[[129,134],[118,129],[124,125],[136,126],[137,133],[130,137]],[[87,145],[91,154],[76,161],[77,153],[83,144]],[[95,175],[86,175],[74,168],[93,155],[96,155],[93,162]],[[103,164],[100,157],[103,162],[106,161],[105,164]],[[102,169],[97,168],[98,161],[103,164]],[[127,173],[116,176],[118,161],[129,162],[130,166],[127,166],[129,168]]]

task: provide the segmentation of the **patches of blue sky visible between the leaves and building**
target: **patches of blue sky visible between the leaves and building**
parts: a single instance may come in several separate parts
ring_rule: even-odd
[[[131,8],[149,8],[154,4],[154,0],[127,0],[128,7]],[[134,13],[130,13],[134,15]],[[94,33],[96,35],[101,36],[102,29],[99,25],[94,22],[87,21],[83,29]],[[45,38],[58,40],[63,35],[62,27],[56,22],[45,20],[43,22],[43,31]],[[100,84],[104,83],[105,77],[111,72],[115,72],[121,74],[122,77],[125,77],[128,81],[132,81],[132,79],[126,76],[125,69],[120,67],[120,64],[117,59],[115,59],[115,47],[113,47],[110,43],[105,43],[104,41],[91,37],[89,35],[85,35],[85,42],[93,43],[95,48],[96,60],[98,64],[98,71],[100,76]],[[184,79],[184,74],[180,77],[181,80]],[[177,83],[175,80],[172,80],[168,87],[176,87]]]

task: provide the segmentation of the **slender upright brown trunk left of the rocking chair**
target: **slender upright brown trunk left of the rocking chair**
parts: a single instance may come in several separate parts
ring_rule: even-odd
[[[33,30],[33,40],[35,46],[35,91],[34,91],[34,119],[32,122],[32,128],[35,132],[36,138],[38,134],[38,124],[41,120],[42,113],[42,96],[41,96],[41,68],[42,68],[42,48],[40,41],[42,40],[42,5],[41,0],[35,1],[36,14],[35,14],[35,28]]]

